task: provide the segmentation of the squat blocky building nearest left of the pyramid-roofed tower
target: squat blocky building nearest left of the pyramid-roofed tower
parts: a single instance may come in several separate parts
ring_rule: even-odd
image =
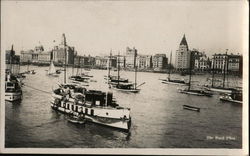
[[[156,54],[152,57],[153,69],[162,70],[167,67],[168,58],[166,54]]]

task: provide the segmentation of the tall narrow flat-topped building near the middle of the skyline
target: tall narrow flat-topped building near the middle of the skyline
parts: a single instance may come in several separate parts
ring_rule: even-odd
[[[135,68],[136,64],[136,57],[137,57],[137,49],[133,47],[133,49],[127,47],[126,54],[125,54],[125,67],[126,68]]]

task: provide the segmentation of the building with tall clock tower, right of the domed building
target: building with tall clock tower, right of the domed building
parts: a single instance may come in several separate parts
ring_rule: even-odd
[[[55,63],[64,64],[66,57],[66,64],[72,65],[74,63],[74,55],[75,55],[75,48],[67,45],[65,34],[63,34],[59,46],[55,46],[53,48],[53,54],[52,54],[53,61]]]

